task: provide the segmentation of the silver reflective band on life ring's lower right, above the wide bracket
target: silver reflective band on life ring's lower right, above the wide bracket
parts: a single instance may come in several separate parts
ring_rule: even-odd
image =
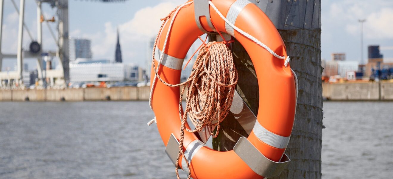
[[[290,136],[283,137],[268,131],[261,124],[259,124],[258,120],[255,122],[253,132],[255,136],[257,136],[265,144],[279,149],[286,148],[290,139]]]

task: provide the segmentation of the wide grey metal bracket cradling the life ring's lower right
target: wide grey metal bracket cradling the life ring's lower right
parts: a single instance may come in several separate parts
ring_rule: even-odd
[[[276,177],[290,162],[290,159],[284,153],[280,162],[271,161],[266,158],[250,141],[245,137],[239,138],[233,151],[258,175],[263,177]]]

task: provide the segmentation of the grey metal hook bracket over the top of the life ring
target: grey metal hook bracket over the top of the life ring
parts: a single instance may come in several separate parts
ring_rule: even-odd
[[[209,7],[209,1],[210,0],[194,0],[194,13],[195,13],[195,22],[198,28],[204,32],[204,33],[214,33],[216,32],[213,24],[211,23],[210,20],[210,7]],[[204,16],[206,17],[206,20],[208,21],[209,27],[214,31],[214,32],[209,32],[206,31],[202,27],[202,23],[200,22],[200,17]]]

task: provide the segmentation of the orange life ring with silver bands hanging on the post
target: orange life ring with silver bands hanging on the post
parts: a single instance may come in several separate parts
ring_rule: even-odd
[[[232,24],[266,44],[276,54],[287,56],[280,34],[257,6],[248,0],[212,0],[211,3]],[[285,67],[284,60],[274,57],[259,44],[234,30],[213,7],[210,6],[209,9],[211,21],[217,30],[237,39],[250,55],[258,79],[259,112],[249,137],[242,137],[231,151],[210,149],[194,133],[185,131],[184,150],[187,161],[182,157],[180,165],[183,170],[187,170],[185,162],[188,162],[194,179],[272,177],[277,175],[277,172],[281,172],[282,168],[279,164],[288,160],[283,161],[286,158],[284,151],[294,124],[296,108],[294,76],[290,67]],[[204,30],[213,31],[206,17],[201,17],[199,20]],[[167,38],[165,35],[169,23],[165,24],[162,30],[156,49],[155,63],[157,66],[160,55],[164,53],[158,75],[167,83],[178,84],[185,55],[198,36],[205,32],[196,23],[194,3],[180,9],[172,25],[165,52],[162,52],[162,49]],[[152,69],[151,81],[154,80],[154,75]],[[154,91],[152,108],[158,131],[168,149],[169,145],[173,145],[173,140],[177,142],[180,138],[181,123],[178,108],[180,88],[168,87],[157,80],[152,90]],[[170,157],[171,153],[175,153],[177,157],[177,148],[168,150]],[[266,160],[272,164],[266,163]]]

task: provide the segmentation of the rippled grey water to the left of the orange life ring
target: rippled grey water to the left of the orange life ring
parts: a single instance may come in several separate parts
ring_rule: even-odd
[[[148,102],[1,102],[0,178],[174,178]]]

